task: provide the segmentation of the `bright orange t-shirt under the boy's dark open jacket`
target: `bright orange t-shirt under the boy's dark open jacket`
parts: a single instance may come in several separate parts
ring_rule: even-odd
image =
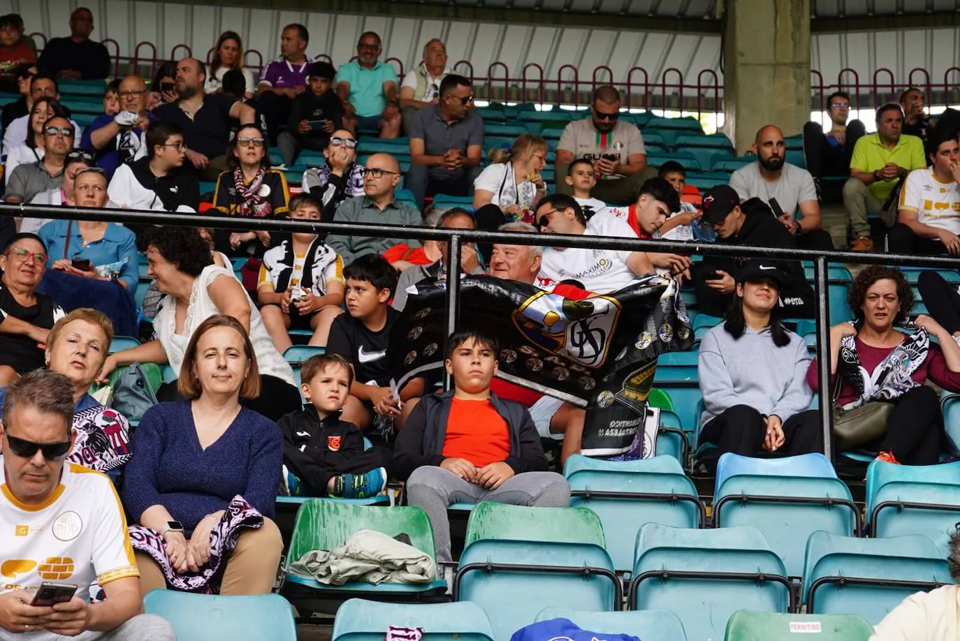
[[[467,459],[477,467],[510,456],[510,428],[490,400],[454,398],[446,420],[444,457]]]

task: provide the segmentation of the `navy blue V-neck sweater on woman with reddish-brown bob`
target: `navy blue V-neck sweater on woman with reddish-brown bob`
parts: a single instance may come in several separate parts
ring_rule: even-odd
[[[241,494],[273,517],[283,461],[283,437],[269,418],[246,408],[220,439],[201,449],[190,401],[160,403],[133,432],[124,474],[124,506],[135,521],[155,505],[193,532],[207,514]]]

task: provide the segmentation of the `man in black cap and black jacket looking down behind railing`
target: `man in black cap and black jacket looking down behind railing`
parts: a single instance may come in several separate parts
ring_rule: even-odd
[[[704,196],[703,220],[717,232],[717,243],[751,247],[797,249],[797,237],[780,223],[770,206],[758,198],[740,202],[729,185],[717,185]],[[700,312],[723,317],[736,290],[739,260],[711,256],[693,264],[693,287]],[[813,288],[806,282],[799,260],[777,261],[783,284],[783,317],[812,319],[816,313]]]

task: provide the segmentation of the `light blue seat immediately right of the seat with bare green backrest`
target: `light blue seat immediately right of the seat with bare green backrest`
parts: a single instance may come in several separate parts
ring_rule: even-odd
[[[748,607],[793,608],[783,562],[756,528],[690,530],[659,524],[636,534],[630,609],[673,612],[688,639],[721,639],[727,620]]]

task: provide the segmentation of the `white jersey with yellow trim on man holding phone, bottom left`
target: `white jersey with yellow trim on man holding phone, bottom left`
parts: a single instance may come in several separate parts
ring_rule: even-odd
[[[53,581],[76,583],[83,598],[93,581],[138,576],[120,497],[105,474],[65,463],[50,498],[29,506],[13,497],[0,465],[0,592]]]

